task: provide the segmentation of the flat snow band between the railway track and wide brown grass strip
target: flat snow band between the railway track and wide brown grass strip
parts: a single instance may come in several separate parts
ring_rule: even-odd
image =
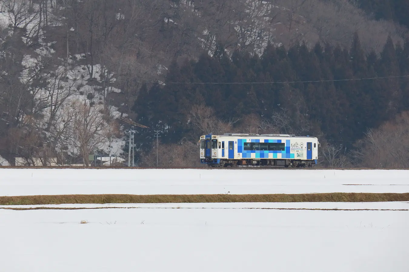
[[[0,196],[409,192],[409,170],[0,169]]]

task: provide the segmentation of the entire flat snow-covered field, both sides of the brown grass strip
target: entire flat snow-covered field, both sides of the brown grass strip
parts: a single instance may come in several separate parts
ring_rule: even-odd
[[[3,168],[0,195],[409,192],[408,174],[406,170]],[[2,209],[6,207],[101,209]],[[9,272],[406,272],[408,209],[407,201],[0,206],[1,268]],[[81,224],[82,220],[88,223]]]

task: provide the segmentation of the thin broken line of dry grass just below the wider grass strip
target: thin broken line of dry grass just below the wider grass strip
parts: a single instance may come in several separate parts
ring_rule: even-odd
[[[409,209],[338,209],[338,208],[198,208],[198,207],[31,207],[31,208],[0,208],[4,210],[95,210],[95,209],[216,209],[216,210],[381,210],[381,211],[409,211]]]

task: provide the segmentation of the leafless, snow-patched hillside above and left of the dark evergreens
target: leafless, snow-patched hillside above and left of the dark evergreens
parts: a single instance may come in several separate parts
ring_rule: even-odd
[[[367,18],[348,0],[3,0],[4,145],[28,161],[120,155],[124,128],[115,118],[135,117],[142,83],[163,85],[173,60],[213,55],[216,44],[258,55],[269,42],[349,47],[356,31],[365,51],[379,52],[388,33],[397,42],[407,30]]]

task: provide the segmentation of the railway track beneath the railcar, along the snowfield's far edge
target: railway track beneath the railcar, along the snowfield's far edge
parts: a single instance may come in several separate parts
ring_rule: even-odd
[[[280,166],[250,166],[250,167],[115,167],[115,166],[0,166],[0,169],[285,169],[285,170],[409,170],[409,168],[285,168]]]

